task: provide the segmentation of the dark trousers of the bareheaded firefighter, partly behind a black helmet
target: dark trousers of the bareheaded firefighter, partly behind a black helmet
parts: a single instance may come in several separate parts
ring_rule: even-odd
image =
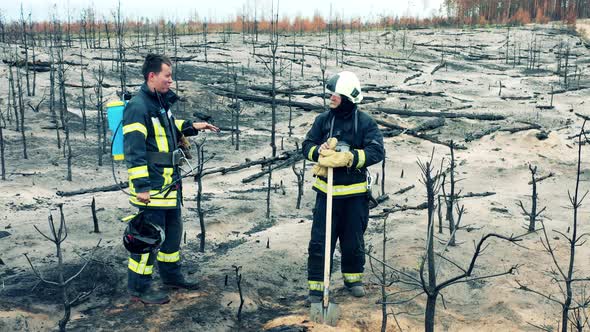
[[[162,282],[166,283],[182,278],[180,273],[180,241],[182,238],[180,208],[142,210],[144,220],[162,227],[166,238],[157,252],[129,255],[127,288],[136,292],[144,292],[150,287],[154,261],[158,262]]]

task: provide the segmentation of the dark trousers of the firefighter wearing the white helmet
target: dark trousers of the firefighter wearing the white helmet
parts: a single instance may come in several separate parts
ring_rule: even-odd
[[[341,272],[348,287],[362,285],[365,266],[364,233],[369,220],[366,195],[332,200],[332,257],[336,240],[342,253]],[[326,236],[326,195],[318,193],[313,209],[313,224],[308,247],[307,280],[310,295],[324,291],[324,243]],[[331,260],[333,262],[333,260]],[[330,267],[332,271],[332,266]]]

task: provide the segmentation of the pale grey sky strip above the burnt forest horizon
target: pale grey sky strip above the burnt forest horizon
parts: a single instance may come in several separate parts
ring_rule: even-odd
[[[334,14],[344,14],[345,17],[361,16],[377,18],[381,15],[392,16],[417,16],[428,17],[438,12],[443,0],[339,0],[339,1],[318,1],[318,0],[282,0],[279,4],[279,13],[283,15],[311,17],[317,10],[327,17],[330,12],[330,4]],[[50,12],[56,5],[58,15],[65,18],[67,9],[74,19],[77,19],[82,8],[93,6],[100,16],[110,16],[117,6],[117,0],[2,0],[0,7],[2,14],[10,19],[17,19],[20,15],[22,3],[25,15],[32,12],[34,20],[45,20],[49,18]],[[214,20],[225,20],[228,17],[235,17],[242,12],[244,6],[249,6],[253,12],[254,6],[268,16],[270,14],[271,0],[122,0],[121,7],[127,17],[165,17],[167,19],[177,18],[183,20],[194,13],[200,18],[210,17]],[[276,2],[275,2],[276,3]]]

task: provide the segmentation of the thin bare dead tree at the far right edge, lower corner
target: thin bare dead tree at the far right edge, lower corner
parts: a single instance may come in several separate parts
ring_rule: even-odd
[[[545,224],[542,220],[539,221],[543,230],[543,236],[540,238],[541,245],[543,245],[545,251],[551,256],[551,260],[553,261],[554,265],[550,271],[550,275],[552,276],[551,283],[557,284],[561,298],[555,296],[555,294],[547,293],[545,290],[536,290],[517,280],[519,286],[518,289],[541,296],[542,298],[549,300],[549,302],[557,304],[561,307],[560,324],[562,332],[568,331],[568,325],[570,323],[577,327],[583,327],[586,322],[585,318],[579,315],[579,311],[582,310],[585,312],[587,308],[590,307],[590,296],[586,294],[588,287],[587,282],[590,281],[590,278],[579,277],[575,271],[576,248],[586,243],[586,239],[584,238],[589,235],[588,233],[579,234],[580,230],[578,229],[578,222],[580,220],[578,212],[582,206],[582,202],[588,195],[588,191],[586,191],[583,195],[580,193],[580,176],[582,174],[581,164],[583,140],[586,144],[590,143],[590,139],[584,132],[586,121],[590,120],[590,117],[579,114],[578,116],[584,119],[584,123],[582,124],[580,135],[578,136],[578,162],[576,170],[576,184],[573,196],[568,190],[568,197],[573,211],[572,225],[568,227],[568,230],[565,233],[558,230],[553,230],[553,232],[558,235],[557,239],[562,238],[567,243],[567,246],[565,246],[564,249],[568,249],[569,253],[568,256],[564,257],[565,262],[560,261],[560,257],[563,257],[563,255],[561,254],[560,257],[557,256],[558,247],[551,243]],[[565,267],[564,263],[567,264],[567,267]],[[581,329],[578,330],[581,331]]]

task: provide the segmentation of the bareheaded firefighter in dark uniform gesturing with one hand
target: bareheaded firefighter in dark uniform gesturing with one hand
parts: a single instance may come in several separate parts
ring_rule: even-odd
[[[165,240],[158,252],[129,257],[128,289],[132,300],[149,304],[169,301],[165,292],[150,287],[154,261],[164,285],[195,289],[180,271],[180,214],[182,191],[179,180],[179,141],[200,130],[217,132],[206,122],[175,119],[170,107],[178,97],[172,85],[172,63],[163,55],[149,54],[143,63],[145,79],[123,114],[125,160],[129,175],[130,203],[139,208],[144,222],[160,226]],[[175,182],[176,181],[176,182]]]

